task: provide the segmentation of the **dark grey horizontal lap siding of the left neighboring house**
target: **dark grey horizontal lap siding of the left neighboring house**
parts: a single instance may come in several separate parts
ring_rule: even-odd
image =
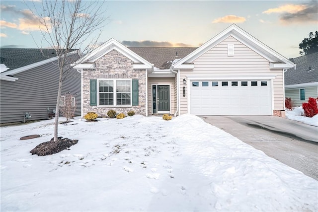
[[[45,64],[13,75],[16,81],[1,80],[0,120],[2,123],[21,122],[24,113],[30,120],[48,118],[47,108],[52,113],[56,108],[58,93],[58,70],[56,63]],[[76,116],[80,115],[80,73],[70,70],[63,82],[62,95],[71,92],[77,102]],[[78,94],[76,94],[78,93]]]

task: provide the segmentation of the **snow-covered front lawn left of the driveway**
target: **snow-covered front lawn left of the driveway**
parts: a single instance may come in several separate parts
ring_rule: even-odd
[[[53,120],[1,127],[1,211],[318,211],[318,181],[196,116],[98,120],[48,156]]]

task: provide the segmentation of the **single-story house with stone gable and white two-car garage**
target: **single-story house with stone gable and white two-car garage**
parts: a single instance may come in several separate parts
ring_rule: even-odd
[[[233,24],[198,48],[128,48],[112,38],[73,66],[81,116],[284,116],[284,70],[294,64]]]

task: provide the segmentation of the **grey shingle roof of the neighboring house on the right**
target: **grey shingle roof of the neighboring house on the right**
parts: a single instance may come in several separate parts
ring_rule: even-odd
[[[291,59],[296,69],[285,72],[285,85],[318,82],[318,52]]]

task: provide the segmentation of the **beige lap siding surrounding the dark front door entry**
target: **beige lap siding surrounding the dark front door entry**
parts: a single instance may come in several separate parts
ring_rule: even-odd
[[[149,77],[148,78],[148,114],[153,114],[153,107],[152,107],[152,92],[153,92],[153,85],[170,85],[170,98],[171,98],[171,105],[170,105],[170,113],[174,114],[176,108],[176,91],[174,85],[174,77]]]

